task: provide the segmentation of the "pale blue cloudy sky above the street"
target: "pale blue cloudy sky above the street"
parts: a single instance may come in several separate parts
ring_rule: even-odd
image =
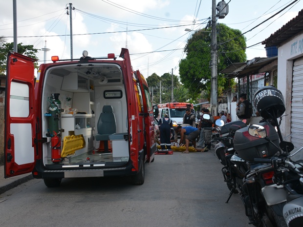
[[[217,22],[244,33],[294,1],[225,0],[229,3],[229,14]],[[83,50],[92,57],[104,57],[108,53],[119,55],[121,48],[127,46],[133,69],[139,69],[145,77],[152,73],[161,76],[171,73],[172,69],[179,75],[178,62],[186,57],[183,48],[192,35],[184,31],[185,28],[205,27],[212,12],[212,0],[17,0],[18,42],[34,44],[41,49],[46,40],[50,49],[48,59],[53,55],[70,59],[70,37],[65,36],[70,34],[65,9],[70,2],[75,7],[72,11],[73,57],[80,58]],[[247,46],[267,39],[302,9],[303,0],[297,0],[274,18],[247,32]],[[0,36],[12,42],[12,1],[1,2],[0,15]],[[261,44],[248,48],[246,54],[248,60],[266,57]],[[43,51],[38,53],[38,58],[42,63]]]

